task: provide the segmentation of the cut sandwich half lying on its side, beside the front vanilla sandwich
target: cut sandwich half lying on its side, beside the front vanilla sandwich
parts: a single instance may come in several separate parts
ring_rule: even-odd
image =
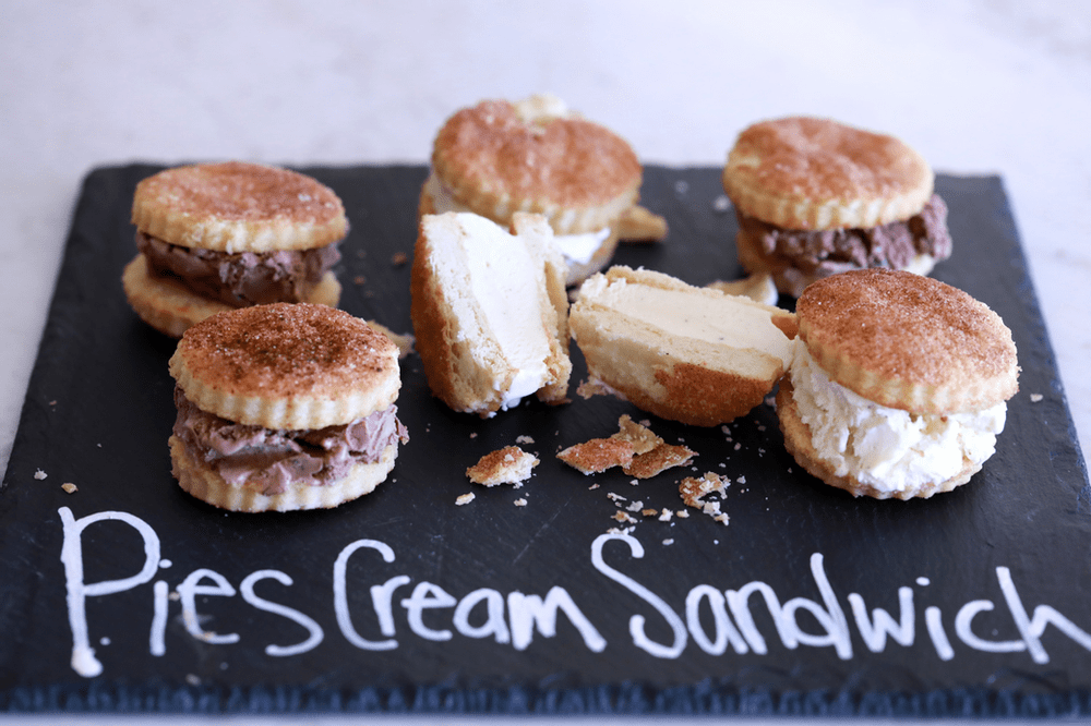
[[[582,396],[611,394],[697,426],[762,403],[788,368],[795,335],[788,311],[624,266],[580,286],[568,325],[587,362]]]

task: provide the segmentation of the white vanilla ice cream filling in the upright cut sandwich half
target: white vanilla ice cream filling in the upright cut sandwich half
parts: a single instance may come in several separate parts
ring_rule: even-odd
[[[457,250],[436,245],[436,253],[447,257],[437,270],[445,289],[469,289],[466,298],[452,301],[458,318],[472,319],[477,301],[501,354],[516,368],[507,389],[497,389],[504,398],[502,408],[508,409],[549,378],[546,361],[550,344],[542,328],[542,310],[538,297],[527,294],[543,286],[538,279],[544,274],[543,266],[517,238],[484,217],[460,214],[458,225]]]

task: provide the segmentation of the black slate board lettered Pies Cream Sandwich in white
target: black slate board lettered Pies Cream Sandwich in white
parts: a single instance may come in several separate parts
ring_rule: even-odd
[[[375,493],[332,511],[243,516],[178,489],[166,447],[172,342],[136,319],[119,282],[133,254],[133,187],[157,169],[93,171],[75,210],[0,491],[0,710],[1091,713],[1087,471],[1000,180],[937,180],[956,252],[935,276],[1004,317],[1022,365],[997,452],[970,484],[932,500],[853,499],[802,473],[769,406],[724,429],[652,419],[668,441],[684,439],[699,453],[697,473],[734,480],[723,503],[730,524],[696,510],[672,523],[635,515],[640,521],[628,539],[600,539],[622,527],[608,493],[626,497],[625,506],[683,509],[676,483],[694,472],[671,470],[633,486],[620,471],[585,477],[553,455],[609,435],[622,413],[643,414],[611,398],[574,397],[568,406],[530,403],[481,421],[432,399],[416,358],[404,363],[399,400],[412,438]],[[392,258],[411,253],[427,170],[305,171],[343,197],[351,220],[337,269],[341,306],[409,331],[409,265]],[[735,226],[715,204],[720,195],[718,169],[647,169],[643,199],[666,215],[670,240],[625,246],[616,262],[694,285],[736,277]],[[574,354],[573,389],[585,375]],[[1032,402],[1031,394],[1044,398]],[[533,438],[527,448],[541,459],[525,487],[467,482],[467,465],[520,435]],[[77,493],[65,494],[64,482]],[[455,506],[470,491],[476,500]],[[525,507],[514,505],[519,497]],[[84,583],[133,578],[148,565],[143,581],[67,600],[62,508],[73,521],[130,517],[83,520],[79,540],[70,528],[70,545],[82,546]],[[158,568],[145,554],[153,541]],[[235,594],[197,589],[192,627],[236,642],[190,634],[184,598],[166,594],[201,568]],[[255,572],[244,595],[243,581]],[[205,576],[196,584],[215,590],[217,576]],[[386,632],[372,600],[383,583],[393,589]],[[731,617],[719,626],[714,617],[724,591],[747,585],[759,591],[748,601],[751,640],[741,631],[742,610],[722,609]],[[551,618],[528,619],[533,601],[518,595],[551,590],[555,603],[571,606],[555,617],[555,633]],[[687,596],[699,606],[699,628],[688,633]],[[912,637],[907,630],[903,642],[891,636],[868,648],[854,601],[868,620],[882,608],[898,621],[904,603]],[[96,677],[71,665],[80,626],[73,630],[70,616],[81,602],[103,667]],[[269,612],[268,602],[291,610]],[[683,640],[661,608],[683,624]],[[1043,634],[1027,634],[1031,620]],[[939,624],[949,657],[940,657],[944,638],[930,622]],[[322,640],[305,652],[266,652],[304,643],[315,628]],[[645,633],[645,646],[634,632]],[[385,650],[372,650],[375,643]]]

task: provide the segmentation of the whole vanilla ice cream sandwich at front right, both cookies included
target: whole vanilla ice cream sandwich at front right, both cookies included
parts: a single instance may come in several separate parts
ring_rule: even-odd
[[[1018,390],[1011,332],[984,303],[912,273],[811,285],[777,394],[784,445],[827,484],[879,499],[964,484]]]

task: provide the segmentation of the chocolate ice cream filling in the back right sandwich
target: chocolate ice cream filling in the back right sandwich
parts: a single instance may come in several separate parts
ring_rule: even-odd
[[[772,271],[792,267],[826,277],[859,267],[906,269],[919,255],[940,261],[951,254],[947,205],[937,194],[904,221],[866,229],[783,229],[735,214],[740,234],[762,251]]]

